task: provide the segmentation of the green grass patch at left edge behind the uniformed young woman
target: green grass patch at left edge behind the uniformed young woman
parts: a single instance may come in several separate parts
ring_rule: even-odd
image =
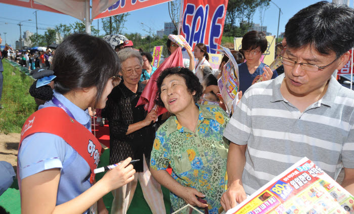
[[[0,131],[5,134],[20,133],[27,117],[37,110],[28,90],[33,79],[3,60],[4,85],[0,110]]]

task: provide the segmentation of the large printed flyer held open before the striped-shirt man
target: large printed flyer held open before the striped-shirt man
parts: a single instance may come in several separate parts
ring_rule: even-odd
[[[354,197],[306,157],[227,214],[354,213]]]

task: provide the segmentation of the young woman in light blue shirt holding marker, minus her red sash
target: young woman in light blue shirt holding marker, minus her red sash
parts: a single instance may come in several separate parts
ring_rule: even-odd
[[[87,34],[68,36],[58,47],[53,61],[56,76],[53,99],[39,106],[38,112],[61,106],[91,131],[87,108],[105,107],[113,88],[112,77],[119,66],[114,50],[101,38]],[[25,128],[26,125],[23,132]],[[86,150],[92,149],[90,143],[89,147],[83,142],[82,145]],[[130,160],[122,161],[93,185],[88,162],[62,137],[50,133],[29,135],[21,141],[18,154],[21,210],[23,213],[88,213],[102,196],[134,179]],[[108,213],[102,200],[98,211]]]

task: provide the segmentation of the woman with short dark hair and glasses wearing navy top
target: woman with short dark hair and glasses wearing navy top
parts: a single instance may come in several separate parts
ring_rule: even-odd
[[[261,81],[274,79],[278,76],[277,72],[273,72],[267,65],[260,62],[260,57],[267,51],[268,41],[264,33],[257,31],[249,31],[242,37],[242,49],[245,59],[244,63],[240,63],[239,77],[240,89],[244,94],[245,91],[255,83],[260,77]]]

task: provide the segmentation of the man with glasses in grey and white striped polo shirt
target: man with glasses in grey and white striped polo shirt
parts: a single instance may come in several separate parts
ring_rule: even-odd
[[[225,210],[303,157],[333,179],[344,167],[341,185],[354,194],[354,92],[332,76],[348,62],[353,23],[353,9],[326,2],[288,21],[285,73],[252,85],[224,132],[233,142]]]

